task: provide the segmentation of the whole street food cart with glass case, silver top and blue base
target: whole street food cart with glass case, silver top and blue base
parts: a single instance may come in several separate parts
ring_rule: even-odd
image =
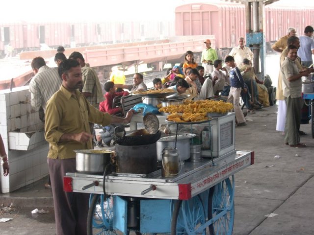
[[[169,124],[166,116],[157,118]],[[131,130],[140,122],[143,116],[134,115]],[[179,123],[170,124],[178,130]],[[120,167],[114,164],[107,164],[104,174],[66,174],[65,191],[91,194],[88,234],[232,234],[234,175],[254,164],[254,152],[235,150],[233,113],[185,124],[191,126],[191,131],[194,125],[209,127],[210,149],[202,150],[197,162],[181,161],[180,171],[172,177],[163,177],[160,168],[147,173],[119,172]],[[147,145],[143,146],[146,149]],[[145,165],[145,155],[154,154],[147,149],[136,153],[134,149],[140,146],[133,147],[126,149],[131,158],[142,158],[137,162],[140,169],[142,163]]]

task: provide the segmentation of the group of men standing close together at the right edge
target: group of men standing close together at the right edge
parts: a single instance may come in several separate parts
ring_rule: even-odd
[[[280,73],[278,77],[276,99],[279,100],[276,130],[285,136],[285,144],[290,147],[306,147],[300,141],[301,109],[304,100],[301,96],[301,77],[308,76],[313,69],[314,28],[308,25],[304,35],[296,37],[296,30],[288,28],[288,34],[280,38],[273,49],[281,52]]]

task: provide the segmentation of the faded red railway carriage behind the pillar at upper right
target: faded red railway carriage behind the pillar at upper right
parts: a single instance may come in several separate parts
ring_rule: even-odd
[[[234,47],[237,38],[245,36],[245,6],[233,2],[191,3],[176,8],[176,35],[214,35],[216,48]],[[264,7],[266,42],[286,35],[295,27],[298,35],[307,25],[314,24],[314,8],[272,6]]]

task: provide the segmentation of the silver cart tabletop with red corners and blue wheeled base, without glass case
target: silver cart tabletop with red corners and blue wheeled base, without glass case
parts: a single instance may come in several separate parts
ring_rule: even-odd
[[[212,162],[185,162],[182,173],[165,179],[160,170],[145,177],[67,173],[66,191],[91,193],[89,235],[231,235],[234,224],[234,174],[254,164],[254,152],[236,151]],[[97,184],[95,183],[97,182]],[[86,187],[88,186],[88,187]],[[139,202],[139,226],[128,227],[128,201]]]

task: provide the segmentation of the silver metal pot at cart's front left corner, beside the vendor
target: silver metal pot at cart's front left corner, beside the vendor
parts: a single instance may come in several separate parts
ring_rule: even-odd
[[[112,151],[83,149],[76,152],[76,169],[86,174],[97,174],[105,171],[105,166],[110,163]]]

